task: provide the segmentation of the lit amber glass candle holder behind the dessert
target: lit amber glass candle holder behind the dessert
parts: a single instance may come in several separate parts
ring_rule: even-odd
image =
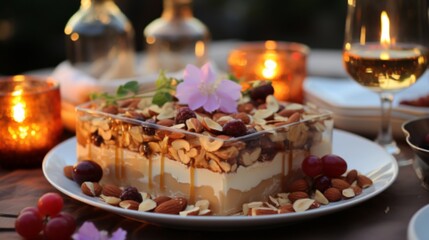
[[[309,47],[294,42],[254,42],[232,50],[228,56],[231,73],[246,82],[270,80],[281,101],[302,103],[307,76]]]

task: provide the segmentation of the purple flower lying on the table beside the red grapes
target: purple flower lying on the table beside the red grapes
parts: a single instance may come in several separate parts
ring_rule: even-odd
[[[98,231],[92,222],[85,222],[79,228],[79,231],[73,234],[73,240],[124,240],[127,237],[127,232],[122,228],[116,230],[109,237],[107,231]]]

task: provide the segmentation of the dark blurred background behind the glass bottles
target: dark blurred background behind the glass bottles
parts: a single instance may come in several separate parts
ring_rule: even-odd
[[[137,51],[143,29],[162,12],[162,0],[115,0],[135,30]],[[345,0],[194,0],[193,11],[212,41],[278,40],[310,48],[341,49]],[[80,0],[1,0],[0,75],[53,68],[66,59],[64,27]]]

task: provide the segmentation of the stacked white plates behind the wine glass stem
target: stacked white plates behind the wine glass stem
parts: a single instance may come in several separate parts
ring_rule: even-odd
[[[380,98],[349,78],[308,77],[304,83],[306,102],[333,112],[335,127],[363,135],[376,135],[380,128]],[[429,115],[428,107],[399,104],[429,94],[429,73],[395,95],[392,109],[393,134],[403,137],[404,121]]]

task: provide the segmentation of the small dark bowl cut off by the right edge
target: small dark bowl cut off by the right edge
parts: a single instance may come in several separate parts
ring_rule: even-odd
[[[429,134],[429,117],[409,120],[402,124],[406,141],[414,152],[414,170],[422,185],[429,190],[429,144],[425,137]]]

